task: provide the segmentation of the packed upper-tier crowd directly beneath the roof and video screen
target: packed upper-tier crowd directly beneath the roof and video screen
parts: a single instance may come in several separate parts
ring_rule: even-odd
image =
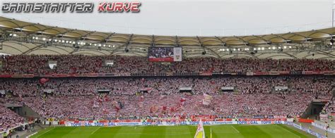
[[[182,62],[162,65],[141,56],[2,56],[1,74],[71,73],[204,73],[248,71],[319,71],[335,70],[335,61],[326,59],[253,59],[184,58]],[[57,61],[51,70],[49,61]],[[113,61],[112,67],[105,61]]]

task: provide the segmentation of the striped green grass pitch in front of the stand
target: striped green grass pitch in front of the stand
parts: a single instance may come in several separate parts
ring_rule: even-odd
[[[313,137],[306,132],[296,130],[286,125],[211,125],[204,126],[206,137],[282,137],[282,138],[304,138]],[[41,130],[33,136],[36,137],[194,137],[195,125],[182,126],[123,126],[123,127],[49,127]]]

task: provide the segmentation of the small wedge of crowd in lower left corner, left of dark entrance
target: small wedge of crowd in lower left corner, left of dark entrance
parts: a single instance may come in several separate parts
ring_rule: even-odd
[[[0,105],[0,132],[23,124],[23,117]]]

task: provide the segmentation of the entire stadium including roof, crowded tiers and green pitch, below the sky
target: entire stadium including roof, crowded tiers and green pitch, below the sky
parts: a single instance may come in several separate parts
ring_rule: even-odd
[[[139,35],[0,16],[0,137],[335,137],[334,36]]]

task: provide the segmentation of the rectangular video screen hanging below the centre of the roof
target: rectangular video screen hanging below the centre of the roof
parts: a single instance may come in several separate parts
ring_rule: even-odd
[[[151,62],[182,61],[181,47],[149,47],[148,57]]]

